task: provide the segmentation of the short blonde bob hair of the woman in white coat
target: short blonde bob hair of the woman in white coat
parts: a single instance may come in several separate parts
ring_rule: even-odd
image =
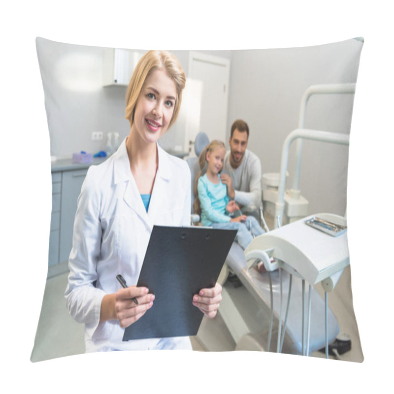
[[[174,124],[179,114],[182,90],[186,84],[185,72],[178,60],[171,53],[166,51],[148,51],[141,57],[137,66],[135,66],[126,93],[126,119],[129,120],[130,126],[134,122],[135,105],[145,80],[152,71],[158,69],[164,69],[176,85],[177,97],[175,98],[174,112],[172,113],[168,129]]]

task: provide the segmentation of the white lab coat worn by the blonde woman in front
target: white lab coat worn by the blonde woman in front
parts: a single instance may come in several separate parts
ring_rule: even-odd
[[[117,320],[99,323],[103,296],[120,288],[116,275],[129,286],[137,284],[153,225],[190,225],[189,166],[159,145],[158,155],[148,212],[131,174],[126,139],[104,163],[90,166],[82,185],[65,297],[70,315],[85,323],[86,352],[191,349],[188,337],[123,342]]]

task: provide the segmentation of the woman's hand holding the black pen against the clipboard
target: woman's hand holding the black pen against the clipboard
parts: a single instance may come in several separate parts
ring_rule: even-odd
[[[101,302],[100,322],[117,319],[122,328],[131,326],[152,307],[155,296],[148,292],[146,287],[130,286],[105,295]],[[138,304],[133,301],[134,297]]]

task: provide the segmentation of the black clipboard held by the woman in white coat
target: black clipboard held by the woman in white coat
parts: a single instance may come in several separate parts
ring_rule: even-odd
[[[125,329],[123,340],[197,335],[200,289],[215,286],[236,230],[154,226],[137,286],[155,295],[152,308]]]

